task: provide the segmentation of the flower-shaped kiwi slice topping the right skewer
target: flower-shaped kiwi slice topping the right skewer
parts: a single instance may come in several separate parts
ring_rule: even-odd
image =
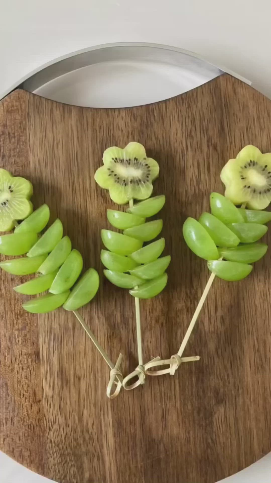
[[[262,154],[253,145],[245,146],[230,159],[220,173],[225,196],[235,205],[263,210],[271,202],[271,153]]]

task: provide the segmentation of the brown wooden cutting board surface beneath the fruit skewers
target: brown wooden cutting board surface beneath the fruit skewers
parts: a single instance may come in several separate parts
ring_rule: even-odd
[[[223,192],[222,166],[248,143],[271,151],[271,101],[223,75],[131,109],[87,109],[24,91],[0,103],[0,166],[34,185],[34,204],[61,218],[101,288],[81,313],[124,374],[136,366],[134,299],[102,277],[99,231],[114,206],[94,181],[110,145],[142,142],[160,164],[154,193],[165,255],[163,294],[143,301],[144,359],[176,353],[209,277],[182,237],[190,215]],[[265,237],[271,241],[270,233]],[[215,280],[174,377],[109,401],[108,367],[73,314],[31,316],[0,274],[0,449],[61,483],[213,483],[271,451],[270,253],[244,281]],[[16,281],[15,281],[16,278]]]

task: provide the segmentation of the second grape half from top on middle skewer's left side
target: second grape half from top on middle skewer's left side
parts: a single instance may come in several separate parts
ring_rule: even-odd
[[[131,255],[143,245],[143,241],[111,230],[101,230],[101,237],[106,248],[118,255]]]

